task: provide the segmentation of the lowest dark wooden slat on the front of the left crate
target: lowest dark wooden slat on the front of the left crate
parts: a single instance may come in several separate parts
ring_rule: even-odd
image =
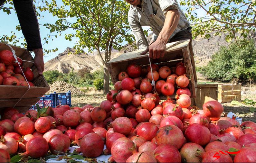
[[[19,107],[19,106],[28,106],[29,104],[35,104],[39,99],[40,98],[22,98],[16,106]],[[13,107],[18,101],[19,101],[19,98],[0,99],[0,106]]]

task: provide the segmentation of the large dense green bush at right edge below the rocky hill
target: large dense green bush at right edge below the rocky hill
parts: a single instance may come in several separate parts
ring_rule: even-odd
[[[212,61],[202,68],[202,73],[210,80],[230,82],[256,81],[256,48],[253,40],[241,40],[240,46],[232,43],[221,47],[212,56]]]

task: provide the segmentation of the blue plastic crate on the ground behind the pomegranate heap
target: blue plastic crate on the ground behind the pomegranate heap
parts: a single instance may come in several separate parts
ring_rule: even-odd
[[[52,93],[50,95],[45,95],[46,97],[40,97],[40,100],[36,104],[42,107],[56,107],[58,105],[69,105],[71,107],[71,91],[67,93]],[[36,104],[31,106],[29,110],[37,110]]]

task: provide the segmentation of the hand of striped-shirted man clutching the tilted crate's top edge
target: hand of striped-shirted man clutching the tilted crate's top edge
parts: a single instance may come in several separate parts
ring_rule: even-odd
[[[155,41],[149,46],[149,57],[153,59],[159,59],[164,57],[166,52],[166,43],[161,41]]]

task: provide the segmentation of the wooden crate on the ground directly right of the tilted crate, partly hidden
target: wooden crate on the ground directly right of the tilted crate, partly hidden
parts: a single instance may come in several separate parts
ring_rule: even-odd
[[[198,84],[196,98],[191,98],[191,105],[202,108],[204,103],[217,100],[217,91],[218,84]]]

